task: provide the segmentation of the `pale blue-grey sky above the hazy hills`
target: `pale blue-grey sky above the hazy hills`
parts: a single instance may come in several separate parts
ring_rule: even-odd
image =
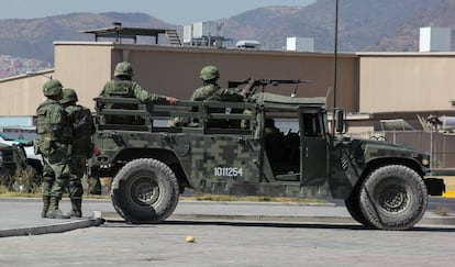
[[[237,15],[267,5],[304,7],[315,0],[1,0],[0,20],[37,19],[73,12],[141,12],[187,25]]]

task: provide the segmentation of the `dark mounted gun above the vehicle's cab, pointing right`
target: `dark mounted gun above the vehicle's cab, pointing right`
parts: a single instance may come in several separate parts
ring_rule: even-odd
[[[291,97],[296,96],[297,88],[299,87],[299,84],[308,84],[309,80],[280,80],[280,79],[254,79],[252,77],[244,79],[244,80],[230,80],[228,81],[229,88],[237,88],[236,90],[243,94],[248,101],[251,97],[257,91],[257,89],[260,87],[262,91],[264,92],[264,89],[266,86],[278,86],[278,85],[296,85],[296,87],[292,90]],[[246,85],[243,88],[238,88],[238,86]]]

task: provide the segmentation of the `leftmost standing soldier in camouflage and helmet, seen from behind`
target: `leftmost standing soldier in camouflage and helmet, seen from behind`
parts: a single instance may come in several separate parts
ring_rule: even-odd
[[[44,160],[43,167],[43,211],[42,218],[68,219],[69,215],[58,209],[58,202],[66,189],[70,173],[68,155],[71,130],[67,115],[58,102],[62,99],[62,84],[48,80],[43,85],[47,98],[36,109],[36,133],[34,142],[36,154]]]

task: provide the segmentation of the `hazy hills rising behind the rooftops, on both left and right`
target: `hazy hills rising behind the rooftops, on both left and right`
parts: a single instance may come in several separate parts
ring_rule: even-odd
[[[318,52],[332,52],[334,3],[333,0],[318,0],[308,7],[265,7],[220,19],[224,36],[233,40],[225,45],[233,46],[240,40],[256,40],[263,49],[282,49],[287,37],[299,36],[313,37]],[[419,27],[455,29],[454,16],[454,0],[342,0],[339,51],[417,52]],[[29,58],[24,60],[37,63],[36,68],[52,65],[54,41],[92,41],[92,35],[80,31],[109,27],[112,22],[131,27],[178,29],[182,33],[181,25],[168,24],[143,13],[71,13],[32,20],[0,20],[0,54],[19,60]],[[0,77],[8,73],[1,71],[5,68],[16,71],[12,75],[21,71],[0,58]]]

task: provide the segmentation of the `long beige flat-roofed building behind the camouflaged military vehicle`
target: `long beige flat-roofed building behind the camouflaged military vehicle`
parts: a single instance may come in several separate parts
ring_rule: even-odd
[[[32,116],[44,101],[42,85],[53,76],[74,88],[80,104],[92,108],[93,98],[112,78],[116,63],[134,66],[134,80],[144,89],[188,99],[201,85],[199,71],[206,65],[220,68],[222,86],[247,77],[302,79],[299,97],[329,96],[333,107],[334,57],[330,53],[231,49],[192,46],[120,44],[115,42],[55,42],[55,70],[0,80],[0,115]],[[380,120],[404,119],[422,129],[418,115],[455,115],[455,53],[356,53],[340,54],[336,105],[348,112],[351,132],[379,130]],[[44,75],[44,76],[43,76]],[[290,94],[292,86],[267,87]],[[395,138],[395,137],[393,137]],[[444,137],[445,138],[445,137]],[[415,141],[428,144],[428,137]],[[414,143],[415,143],[414,142]],[[447,143],[448,142],[448,143]],[[447,158],[447,144],[434,147]],[[412,144],[414,144],[412,143]],[[430,152],[428,145],[421,149]],[[446,149],[446,151],[444,151]]]

